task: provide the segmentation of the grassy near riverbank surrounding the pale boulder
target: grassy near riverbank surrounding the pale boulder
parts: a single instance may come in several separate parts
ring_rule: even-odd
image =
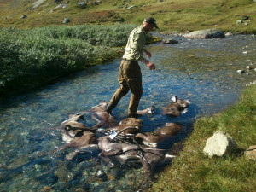
[[[243,90],[240,101],[212,117],[196,120],[183,150],[148,191],[255,191],[255,160],[241,153],[213,157],[203,154],[208,137],[226,131],[241,151],[255,145],[256,85]]]

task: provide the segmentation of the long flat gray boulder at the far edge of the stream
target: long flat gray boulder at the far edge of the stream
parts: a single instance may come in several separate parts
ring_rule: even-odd
[[[184,35],[185,38],[225,38],[223,31],[219,29],[205,29],[195,32],[189,32]]]

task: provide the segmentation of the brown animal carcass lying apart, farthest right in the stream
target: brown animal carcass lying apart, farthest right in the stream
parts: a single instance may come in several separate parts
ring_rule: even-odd
[[[175,117],[180,116],[182,113],[186,113],[187,111],[184,110],[185,108],[189,108],[189,101],[183,101],[177,96],[172,96],[172,103],[167,105],[165,108],[163,108],[162,115],[172,115]]]

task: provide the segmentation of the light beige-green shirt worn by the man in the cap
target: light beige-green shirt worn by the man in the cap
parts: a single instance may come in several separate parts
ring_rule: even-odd
[[[143,26],[138,26],[133,29],[128,38],[125,55],[123,58],[131,61],[143,61],[143,50],[146,44],[146,32],[143,30]]]

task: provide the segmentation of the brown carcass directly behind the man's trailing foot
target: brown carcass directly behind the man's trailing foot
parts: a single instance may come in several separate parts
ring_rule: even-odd
[[[99,105],[91,108],[92,118],[99,122],[94,126],[95,128],[108,128],[117,125],[117,122],[113,116],[106,111],[107,108],[108,102],[100,102]]]

